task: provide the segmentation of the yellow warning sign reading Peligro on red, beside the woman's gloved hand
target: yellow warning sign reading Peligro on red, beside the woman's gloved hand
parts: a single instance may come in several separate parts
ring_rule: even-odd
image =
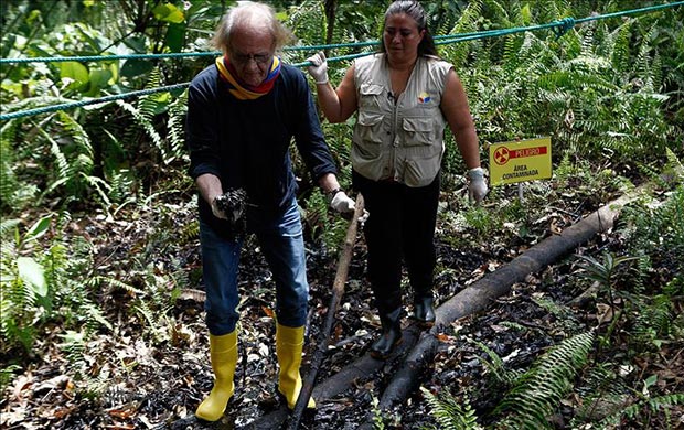
[[[489,170],[492,186],[551,178],[551,138],[492,144]]]

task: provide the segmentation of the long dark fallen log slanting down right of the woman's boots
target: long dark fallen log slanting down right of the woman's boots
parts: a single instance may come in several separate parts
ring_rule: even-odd
[[[639,194],[639,192],[630,193],[600,207],[560,234],[542,240],[507,265],[479,279],[442,303],[435,311],[437,318],[435,326],[420,336],[402,368],[395,373],[378,401],[378,409],[389,410],[403,402],[416,388],[420,373],[435,358],[439,343],[437,334],[446,325],[485,309],[496,298],[506,294],[513,284],[524,281],[527,275],[541,271],[579,245],[587,243],[596,234],[612,228],[622,206],[634,201]],[[371,419],[372,417],[366,424],[372,422]]]

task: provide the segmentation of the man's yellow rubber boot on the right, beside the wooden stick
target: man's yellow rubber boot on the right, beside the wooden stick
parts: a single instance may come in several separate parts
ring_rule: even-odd
[[[276,326],[276,355],[280,365],[278,375],[278,391],[287,399],[287,406],[295,409],[299,391],[301,391],[301,351],[304,344],[304,327]],[[309,398],[307,408],[314,409],[316,401]]]

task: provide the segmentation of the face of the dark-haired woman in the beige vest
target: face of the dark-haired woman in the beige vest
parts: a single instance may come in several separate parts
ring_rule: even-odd
[[[383,31],[383,42],[389,60],[415,60],[424,34],[425,30],[418,30],[416,20],[406,13],[389,15]]]

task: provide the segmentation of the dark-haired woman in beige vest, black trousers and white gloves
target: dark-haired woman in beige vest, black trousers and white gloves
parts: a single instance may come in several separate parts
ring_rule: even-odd
[[[487,194],[478,135],[453,65],[437,56],[427,15],[416,1],[385,12],[381,52],[359,58],[334,89],[323,53],[309,58],[318,100],[330,122],[356,112],[353,187],[364,196],[367,272],[382,323],[371,355],[386,358],[402,340],[402,260],[414,292],[413,318],[435,322],[432,281],[439,171],[448,125],[468,166],[469,193]]]

